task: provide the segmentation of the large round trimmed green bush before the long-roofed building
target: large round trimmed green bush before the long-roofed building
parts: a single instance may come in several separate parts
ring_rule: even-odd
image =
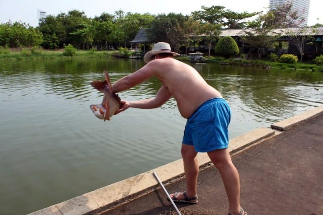
[[[223,37],[219,40],[216,48],[214,48],[216,54],[229,58],[239,53],[239,47],[237,42],[230,36]]]

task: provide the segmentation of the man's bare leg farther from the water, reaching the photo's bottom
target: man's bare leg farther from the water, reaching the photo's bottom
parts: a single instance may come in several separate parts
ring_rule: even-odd
[[[207,153],[214,166],[219,170],[229,199],[229,212],[240,212],[240,180],[236,167],[231,161],[227,149],[214,150]]]

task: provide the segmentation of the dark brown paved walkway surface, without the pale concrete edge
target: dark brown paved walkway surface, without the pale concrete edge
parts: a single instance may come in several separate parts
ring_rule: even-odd
[[[248,214],[323,214],[322,154],[323,115],[320,115],[234,155],[232,159],[241,180],[242,207]],[[166,189],[185,190],[185,180]],[[177,206],[187,213],[195,209],[204,212],[201,214],[227,214],[227,195],[213,166],[200,172],[198,195],[197,204],[177,203]],[[103,214],[175,211],[165,199],[164,191],[158,189]]]

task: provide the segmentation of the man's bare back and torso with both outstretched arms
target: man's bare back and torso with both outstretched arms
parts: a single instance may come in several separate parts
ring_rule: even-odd
[[[153,76],[163,84],[156,97],[146,102],[132,102],[131,107],[145,109],[159,107],[173,96],[181,115],[189,118],[205,101],[222,97],[193,67],[171,57],[150,61],[135,73],[117,81],[113,85],[113,90],[116,93],[127,90]]]

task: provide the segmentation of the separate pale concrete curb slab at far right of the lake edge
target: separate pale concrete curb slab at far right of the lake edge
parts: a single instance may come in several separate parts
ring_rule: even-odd
[[[318,106],[316,108],[313,108],[309,111],[306,111],[304,113],[301,113],[299,115],[296,115],[294,117],[291,117],[289,119],[285,119],[283,121],[280,122],[276,122],[274,124],[271,125],[272,129],[276,129],[276,130],[288,130],[308,119],[314,118],[315,116],[318,116],[320,114],[323,114],[323,105]]]

